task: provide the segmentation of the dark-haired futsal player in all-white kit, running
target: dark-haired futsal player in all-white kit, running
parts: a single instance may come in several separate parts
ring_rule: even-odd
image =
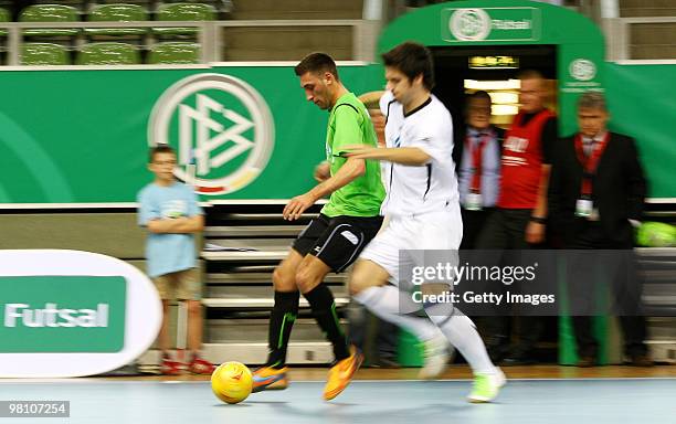
[[[453,121],[431,93],[432,55],[423,45],[406,42],[382,59],[387,92],[380,97],[380,108],[387,119],[387,147],[355,146],[349,155],[385,165],[388,192],[381,214],[390,221],[359,256],[350,276],[350,293],[374,315],[422,340],[426,361],[447,359],[441,352],[451,342],[475,375],[468,400],[489,402],[505,384],[505,375],[490,362],[472,320],[452,305],[439,304],[426,305],[427,317],[418,317],[412,314],[422,305],[400,292],[400,251],[457,251],[463,224],[452,159]],[[420,258],[411,261],[418,265]],[[445,340],[440,340],[440,335]],[[436,371],[430,377],[441,369]]]

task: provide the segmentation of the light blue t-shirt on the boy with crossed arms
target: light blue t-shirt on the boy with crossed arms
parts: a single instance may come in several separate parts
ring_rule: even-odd
[[[146,186],[138,193],[138,224],[141,226],[147,226],[151,220],[202,214],[192,189],[178,181],[169,187]],[[146,258],[150,277],[193,268],[194,235],[148,233]]]

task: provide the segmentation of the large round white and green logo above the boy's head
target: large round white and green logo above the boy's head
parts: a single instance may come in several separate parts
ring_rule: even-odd
[[[265,169],[275,141],[265,99],[243,80],[203,73],[167,88],[154,106],[148,142],[172,145],[177,177],[200,194],[235,192]],[[194,174],[187,170],[192,165]]]

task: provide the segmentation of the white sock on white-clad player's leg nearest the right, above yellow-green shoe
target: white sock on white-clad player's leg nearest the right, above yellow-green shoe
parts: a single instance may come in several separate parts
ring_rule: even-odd
[[[463,354],[472,371],[476,373],[495,373],[496,368],[488,358],[486,346],[474,322],[457,308],[451,316],[434,314],[434,307],[425,309],[427,316],[442,330],[448,342]]]

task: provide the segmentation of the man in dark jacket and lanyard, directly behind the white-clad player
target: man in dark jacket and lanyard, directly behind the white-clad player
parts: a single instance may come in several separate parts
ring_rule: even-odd
[[[484,91],[467,96],[465,134],[453,145],[463,214],[461,250],[474,248],[499,194],[505,130],[490,124],[492,105]]]

